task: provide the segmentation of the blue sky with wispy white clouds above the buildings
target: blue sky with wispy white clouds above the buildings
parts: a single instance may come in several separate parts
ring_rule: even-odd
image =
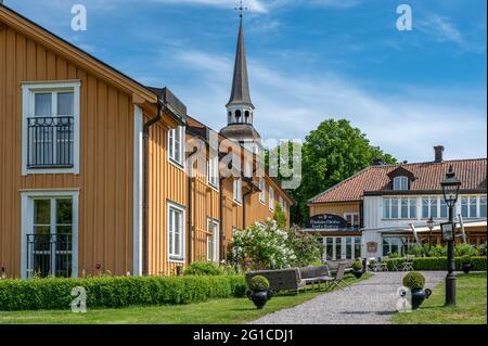
[[[5,4],[151,86],[192,115],[226,124],[236,0],[5,0]],[[255,126],[304,139],[347,118],[399,161],[487,155],[485,0],[247,0],[245,34]],[[70,29],[85,4],[88,30]],[[413,10],[413,30],[396,9]]]

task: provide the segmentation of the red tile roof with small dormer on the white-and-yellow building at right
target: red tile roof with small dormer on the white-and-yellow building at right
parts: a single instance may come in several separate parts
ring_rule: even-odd
[[[449,167],[461,180],[461,190],[486,192],[486,158],[445,161],[442,163],[420,163],[401,165],[383,165],[368,167],[352,177],[339,182],[335,187],[322,192],[308,201],[314,203],[354,202],[361,201],[364,192],[390,191],[388,174],[402,167],[415,177],[410,184],[410,191],[438,191],[440,181],[445,178]]]

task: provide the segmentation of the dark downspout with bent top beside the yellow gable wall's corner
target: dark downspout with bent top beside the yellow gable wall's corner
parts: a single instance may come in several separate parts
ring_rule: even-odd
[[[143,201],[142,201],[142,251],[143,251],[143,265],[142,273],[147,275],[149,273],[149,131],[150,128],[163,118],[163,104],[159,97],[157,97],[157,114],[154,118],[144,124],[142,130],[142,138],[144,140],[143,152]]]

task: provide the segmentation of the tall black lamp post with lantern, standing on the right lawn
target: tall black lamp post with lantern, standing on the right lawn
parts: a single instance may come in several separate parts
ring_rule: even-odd
[[[452,166],[446,174],[446,178],[440,183],[442,187],[444,201],[449,207],[449,223],[452,227],[452,232],[455,230],[454,226],[454,206],[458,202],[459,189],[461,181],[455,177]],[[448,274],[446,277],[446,306],[455,305],[455,274],[454,274],[454,236],[448,240]]]

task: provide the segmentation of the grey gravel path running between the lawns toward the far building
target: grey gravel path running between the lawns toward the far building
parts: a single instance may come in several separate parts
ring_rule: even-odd
[[[446,278],[444,271],[423,272],[426,287]],[[387,324],[397,311],[397,290],[404,272],[376,272],[374,277],[313,298],[291,309],[267,315],[253,324]]]

